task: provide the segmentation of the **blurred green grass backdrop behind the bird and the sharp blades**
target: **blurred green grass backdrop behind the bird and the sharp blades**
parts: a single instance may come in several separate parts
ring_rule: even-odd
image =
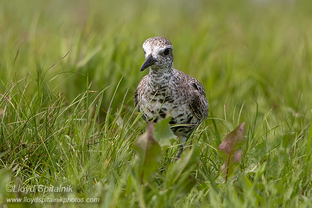
[[[123,77],[117,107],[148,73],[139,72],[142,43],[163,36],[174,45],[175,68],[203,83],[216,116],[223,105],[231,113],[244,101],[257,102],[260,112],[305,114],[312,89],[310,8],[311,1],[3,0],[0,78],[6,86],[24,77],[36,82],[37,72],[70,51],[46,79],[47,90],[73,100],[85,91],[88,74],[92,90],[111,86],[107,109]]]

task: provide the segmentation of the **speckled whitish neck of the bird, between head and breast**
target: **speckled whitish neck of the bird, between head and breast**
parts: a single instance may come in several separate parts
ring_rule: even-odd
[[[148,84],[154,88],[161,88],[164,86],[168,86],[172,75],[173,75],[173,68],[159,69],[159,68],[150,67]]]

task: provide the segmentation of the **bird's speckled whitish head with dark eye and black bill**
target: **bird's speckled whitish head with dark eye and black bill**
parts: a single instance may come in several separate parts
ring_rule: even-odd
[[[170,70],[174,67],[173,46],[170,40],[162,37],[148,38],[143,43],[145,61],[140,71],[150,67],[152,70]]]

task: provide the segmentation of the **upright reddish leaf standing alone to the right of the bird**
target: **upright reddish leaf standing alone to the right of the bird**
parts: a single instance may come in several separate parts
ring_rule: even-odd
[[[224,164],[221,166],[221,174],[225,174],[225,180],[231,176],[238,167],[242,146],[245,142],[245,122],[230,132],[219,145],[219,153],[221,154]]]

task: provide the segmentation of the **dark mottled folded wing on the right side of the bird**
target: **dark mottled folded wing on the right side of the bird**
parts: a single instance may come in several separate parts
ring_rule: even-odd
[[[208,116],[208,101],[205,89],[202,84],[194,78],[190,80],[189,85],[193,88],[193,97],[190,103],[191,108],[198,119],[204,120]]]

